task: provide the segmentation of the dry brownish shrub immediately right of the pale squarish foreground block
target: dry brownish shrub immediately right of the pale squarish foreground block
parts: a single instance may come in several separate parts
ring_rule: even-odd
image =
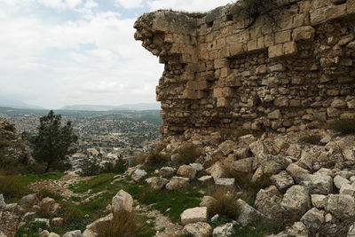
[[[234,190],[212,186],[209,187],[209,194],[213,196],[216,201],[209,205],[209,217],[214,215],[224,215],[235,219],[238,217],[239,209],[237,206],[238,195]]]

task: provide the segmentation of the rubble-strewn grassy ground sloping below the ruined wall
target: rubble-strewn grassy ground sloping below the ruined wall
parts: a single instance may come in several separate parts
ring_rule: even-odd
[[[62,233],[66,237],[97,236],[99,226],[122,208],[146,217],[155,236],[245,236],[259,230],[252,236],[355,236],[354,135],[319,129],[223,137],[186,132],[122,175],[67,175],[29,187],[38,193],[46,187],[77,207],[100,203],[96,215],[86,214],[99,219],[70,233],[76,235]],[[212,212],[217,189],[235,195],[238,215]],[[9,236],[16,231],[13,223],[63,221],[60,209],[67,202],[31,195],[14,204],[2,201],[2,230]],[[53,214],[38,219],[47,202]],[[262,223],[279,227],[261,230]]]

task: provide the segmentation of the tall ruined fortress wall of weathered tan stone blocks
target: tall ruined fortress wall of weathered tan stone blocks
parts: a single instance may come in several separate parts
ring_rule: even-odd
[[[165,65],[163,136],[185,130],[293,130],[355,112],[355,0],[279,1],[272,18],[146,13],[135,38]]]

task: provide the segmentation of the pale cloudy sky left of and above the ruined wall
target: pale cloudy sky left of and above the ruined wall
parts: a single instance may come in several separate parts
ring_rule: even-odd
[[[134,21],[231,2],[0,0],[0,96],[46,108],[154,102],[163,67],[134,41]]]

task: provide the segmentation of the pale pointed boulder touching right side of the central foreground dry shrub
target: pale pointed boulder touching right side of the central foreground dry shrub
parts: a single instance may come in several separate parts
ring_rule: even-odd
[[[252,208],[247,202],[241,199],[237,200],[237,206],[239,210],[237,222],[241,223],[243,226],[255,223],[263,217],[262,213]]]

